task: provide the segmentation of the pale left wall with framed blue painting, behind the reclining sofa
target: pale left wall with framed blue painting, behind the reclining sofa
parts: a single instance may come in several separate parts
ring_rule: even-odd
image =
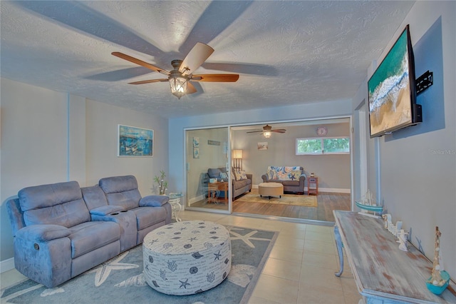
[[[118,123],[153,129],[154,156],[118,157]],[[27,186],[78,181],[82,187],[126,174],[138,178],[142,196],[154,193],[153,177],[168,171],[167,125],[159,116],[1,78],[1,270],[14,256],[9,198]]]

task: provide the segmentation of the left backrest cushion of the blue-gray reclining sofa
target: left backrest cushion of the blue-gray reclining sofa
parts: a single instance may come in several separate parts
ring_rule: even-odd
[[[18,196],[26,226],[56,224],[70,228],[90,221],[77,181],[24,188]]]

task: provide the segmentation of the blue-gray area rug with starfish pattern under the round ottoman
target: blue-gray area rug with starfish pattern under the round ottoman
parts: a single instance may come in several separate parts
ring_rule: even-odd
[[[232,268],[222,283],[196,295],[165,295],[142,274],[142,245],[56,288],[33,280],[1,290],[1,303],[247,303],[276,241],[276,231],[225,226],[232,242]]]

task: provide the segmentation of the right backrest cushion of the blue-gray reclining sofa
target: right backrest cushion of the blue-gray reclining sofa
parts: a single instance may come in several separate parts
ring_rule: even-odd
[[[138,208],[141,194],[135,176],[113,176],[98,182],[109,205],[123,206],[126,210]]]

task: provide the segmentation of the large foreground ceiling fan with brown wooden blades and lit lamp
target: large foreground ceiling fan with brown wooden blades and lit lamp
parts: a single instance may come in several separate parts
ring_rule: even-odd
[[[197,44],[193,46],[193,49],[191,49],[187,56],[185,56],[184,60],[171,61],[173,68],[172,71],[166,71],[165,69],[161,69],[158,66],[148,64],[145,61],[136,59],[132,56],[128,56],[117,51],[111,54],[121,59],[133,62],[133,64],[144,66],[147,69],[151,69],[152,71],[157,71],[158,73],[168,76],[168,78],[135,81],[130,82],[130,84],[169,81],[172,95],[180,99],[185,94],[192,94],[197,92],[197,89],[190,81],[236,82],[237,79],[239,79],[239,74],[193,74],[195,70],[198,69],[199,66],[201,66],[204,61],[209,58],[209,56],[211,56],[212,52],[214,52],[214,49],[212,49],[212,47],[208,46],[207,44],[197,42]]]

